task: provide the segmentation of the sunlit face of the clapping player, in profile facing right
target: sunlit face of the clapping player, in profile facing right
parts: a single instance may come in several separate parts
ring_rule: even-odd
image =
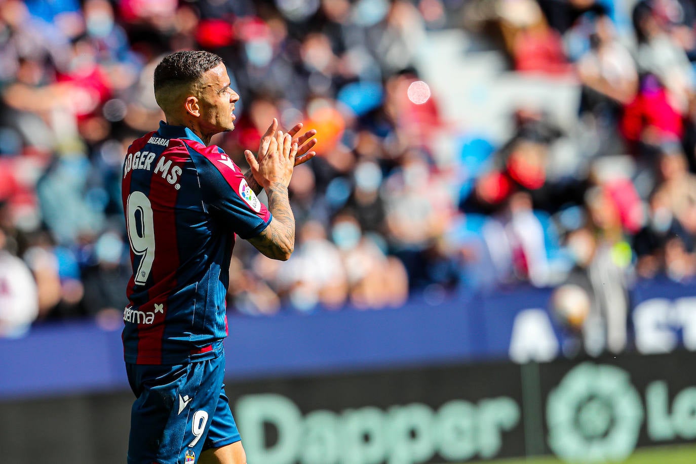
[[[239,95],[230,88],[230,77],[226,67],[220,63],[203,75],[203,89],[200,95],[201,127],[205,133],[235,129],[235,102]]]

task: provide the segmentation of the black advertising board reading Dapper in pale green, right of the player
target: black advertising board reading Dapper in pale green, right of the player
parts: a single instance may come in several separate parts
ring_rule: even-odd
[[[450,365],[232,385],[249,460],[620,461],[696,438],[696,355]]]

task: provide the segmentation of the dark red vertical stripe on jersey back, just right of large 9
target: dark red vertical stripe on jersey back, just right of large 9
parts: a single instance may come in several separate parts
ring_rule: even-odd
[[[184,168],[189,159],[185,147],[174,146],[164,150],[160,155],[172,161],[169,169],[174,166]],[[155,161],[152,161],[155,163]],[[154,312],[155,320],[151,324],[138,325],[138,358],[136,364],[161,364],[162,343],[166,328],[167,298],[177,285],[176,273],[179,269],[179,242],[177,241],[176,203],[179,190],[167,182],[161,175],[152,174],[150,179],[150,206],[155,234],[155,259],[152,261],[150,280],[152,287],[148,289],[147,307],[141,306],[140,311]]]

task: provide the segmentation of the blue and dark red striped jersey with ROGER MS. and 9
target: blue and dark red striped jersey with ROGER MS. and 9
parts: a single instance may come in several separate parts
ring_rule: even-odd
[[[255,237],[271,214],[221,148],[164,122],[128,148],[122,200],[133,266],[123,313],[125,361],[216,357],[227,335],[235,234]]]

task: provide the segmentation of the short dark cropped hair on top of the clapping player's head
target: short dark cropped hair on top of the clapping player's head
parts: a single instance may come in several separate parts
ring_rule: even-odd
[[[193,83],[220,63],[222,58],[209,51],[185,50],[167,55],[155,67],[155,93],[171,83]]]

